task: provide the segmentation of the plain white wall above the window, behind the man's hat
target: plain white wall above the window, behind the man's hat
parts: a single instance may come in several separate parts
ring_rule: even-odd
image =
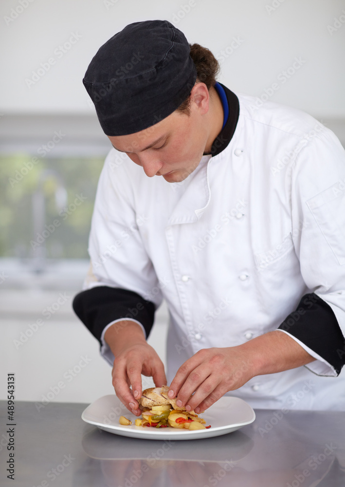
[[[98,48],[130,22],[167,19],[189,42],[215,55],[228,47],[220,81],[234,91],[261,96],[295,57],[301,58],[300,69],[278,83],[272,101],[318,119],[344,117],[344,0],[20,1],[0,4],[0,111],[5,115],[93,113],[82,78]],[[54,50],[72,33],[81,37],[59,58]],[[240,45],[229,54],[234,37]],[[55,64],[28,87],[25,79],[51,57]]]

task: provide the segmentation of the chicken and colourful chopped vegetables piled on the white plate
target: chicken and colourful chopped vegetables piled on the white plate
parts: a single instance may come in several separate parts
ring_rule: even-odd
[[[178,407],[176,398],[168,397],[168,391],[168,386],[151,387],[143,391],[142,397],[138,399],[142,418],[135,420],[135,426],[151,428],[171,426],[191,431],[211,428],[211,426],[205,426],[206,421],[200,418],[195,411],[186,411],[184,407]],[[124,416],[120,418],[119,422],[123,425],[131,424]]]

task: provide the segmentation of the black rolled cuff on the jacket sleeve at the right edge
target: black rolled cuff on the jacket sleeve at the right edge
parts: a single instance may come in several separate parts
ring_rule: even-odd
[[[307,345],[340,374],[345,364],[345,338],[326,301],[314,293],[306,294],[278,329]]]

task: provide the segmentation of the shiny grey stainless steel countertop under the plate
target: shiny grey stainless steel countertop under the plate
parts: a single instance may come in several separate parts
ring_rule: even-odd
[[[215,438],[127,438],[81,420],[86,404],[15,409],[15,480],[7,478],[7,403],[0,401],[0,485],[16,487],[344,487],[345,412],[256,410]]]

